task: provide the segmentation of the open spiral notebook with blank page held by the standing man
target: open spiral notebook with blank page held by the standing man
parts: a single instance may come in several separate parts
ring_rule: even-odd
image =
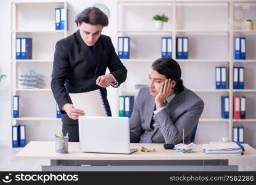
[[[87,116],[107,117],[107,109],[99,89],[82,93],[69,93],[75,109],[85,111]]]

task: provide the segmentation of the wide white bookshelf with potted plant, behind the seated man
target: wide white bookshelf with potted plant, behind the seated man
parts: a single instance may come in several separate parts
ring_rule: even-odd
[[[205,87],[186,86],[185,84],[187,88],[199,94],[205,102],[205,110],[199,120],[199,122],[202,123],[200,123],[199,127],[204,127],[204,129],[207,130],[207,126],[210,124],[210,128],[214,128],[214,130],[211,131],[217,133],[217,138],[212,138],[212,140],[218,140],[221,136],[228,136],[230,139],[233,139],[233,123],[244,122],[244,124],[246,124],[256,122],[256,119],[251,118],[246,120],[234,120],[233,109],[229,109],[229,119],[221,118],[220,114],[220,96],[229,96],[229,107],[233,107],[234,93],[236,93],[236,95],[242,94],[242,96],[247,96],[248,93],[253,94],[256,92],[256,83],[249,78],[246,78],[247,81],[250,81],[250,83],[245,84],[246,89],[233,89],[234,66],[241,65],[246,68],[248,65],[250,70],[254,70],[254,72],[250,73],[256,73],[256,54],[254,54],[256,48],[256,41],[254,41],[256,31],[237,30],[238,28],[231,22],[226,21],[235,19],[234,13],[239,9],[239,6],[242,7],[244,4],[252,5],[252,9],[244,10],[245,15],[251,16],[247,17],[247,19],[255,19],[255,1],[118,1],[117,35],[130,36],[131,43],[130,59],[121,59],[126,68],[128,68],[128,78],[125,83],[117,89],[117,94],[135,96],[138,94],[139,90],[134,89],[134,84],[149,84],[147,74],[149,73],[152,62],[161,57],[160,38],[162,36],[171,36],[173,38],[173,59],[176,59],[176,37],[188,36],[189,43],[191,43],[191,45],[189,45],[189,59],[177,59],[176,61],[181,65],[181,70],[184,75],[181,76],[181,78],[184,83],[193,84],[191,78],[196,78],[200,83],[205,84]],[[163,9],[159,8],[161,6]],[[141,10],[139,10],[139,8]],[[218,14],[216,14],[217,11]],[[246,11],[249,11],[249,13]],[[144,13],[144,17],[141,12]],[[155,15],[155,12],[157,12],[157,14],[164,13],[169,17],[168,23],[164,23],[163,30],[152,30],[152,28],[154,28],[152,17]],[[140,23],[136,24],[136,22],[134,22],[136,16],[138,17],[137,21],[141,21]],[[134,23],[131,23],[130,19],[133,20]],[[255,22],[256,20],[254,20],[254,28]],[[193,24],[196,26],[193,27]],[[254,48],[254,51],[249,47],[247,48],[247,54],[249,56],[247,60],[234,60],[234,36],[249,37],[247,40],[250,41],[250,47]],[[209,44],[205,44],[205,41],[208,39],[209,42],[215,45],[218,41],[220,43],[219,47],[213,48],[210,47]],[[144,44],[141,44],[143,42]],[[152,46],[152,43],[156,46]],[[148,46],[150,44],[152,48]],[[200,47],[200,45],[205,46],[205,49]],[[199,52],[200,50],[204,52]],[[215,51],[212,52],[212,50]],[[202,75],[197,75],[192,71],[197,71],[197,66],[199,68],[198,71],[202,70]],[[228,89],[215,89],[214,70],[217,66],[226,66],[228,69]],[[191,68],[191,70],[189,70],[189,68]],[[205,78],[209,80],[206,81]],[[134,81],[137,83],[134,83]],[[249,102],[250,100],[247,99],[247,101]],[[252,101],[252,103],[249,102],[250,107],[247,107],[250,114],[249,117],[253,117],[252,110],[255,110],[255,104],[253,104],[253,102],[255,101]],[[211,106],[210,104],[214,105]],[[220,128],[218,128],[220,126],[219,123],[223,124],[221,131]],[[199,128],[199,132],[200,129],[201,128]],[[256,131],[256,125],[253,129]],[[218,134],[218,132],[220,134]],[[205,138],[208,137],[205,133],[199,134],[204,135]],[[208,141],[208,138],[205,138],[202,137],[201,142]],[[256,144],[254,143],[254,145]]]

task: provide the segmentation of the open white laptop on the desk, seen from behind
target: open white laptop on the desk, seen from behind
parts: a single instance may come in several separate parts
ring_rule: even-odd
[[[79,117],[82,152],[131,154],[130,126],[127,117]]]

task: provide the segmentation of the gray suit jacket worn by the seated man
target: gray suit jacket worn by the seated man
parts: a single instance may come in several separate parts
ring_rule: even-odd
[[[204,109],[204,102],[194,92],[184,88],[171,102],[153,115],[155,98],[149,88],[142,88],[134,102],[130,118],[131,142],[180,143],[190,142],[194,126]],[[156,126],[151,128],[152,117]]]

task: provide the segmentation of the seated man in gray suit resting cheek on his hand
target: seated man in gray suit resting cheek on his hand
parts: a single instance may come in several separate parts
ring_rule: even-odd
[[[186,89],[180,65],[173,59],[157,59],[149,73],[149,88],[142,88],[130,118],[130,141],[189,143],[204,102]]]

